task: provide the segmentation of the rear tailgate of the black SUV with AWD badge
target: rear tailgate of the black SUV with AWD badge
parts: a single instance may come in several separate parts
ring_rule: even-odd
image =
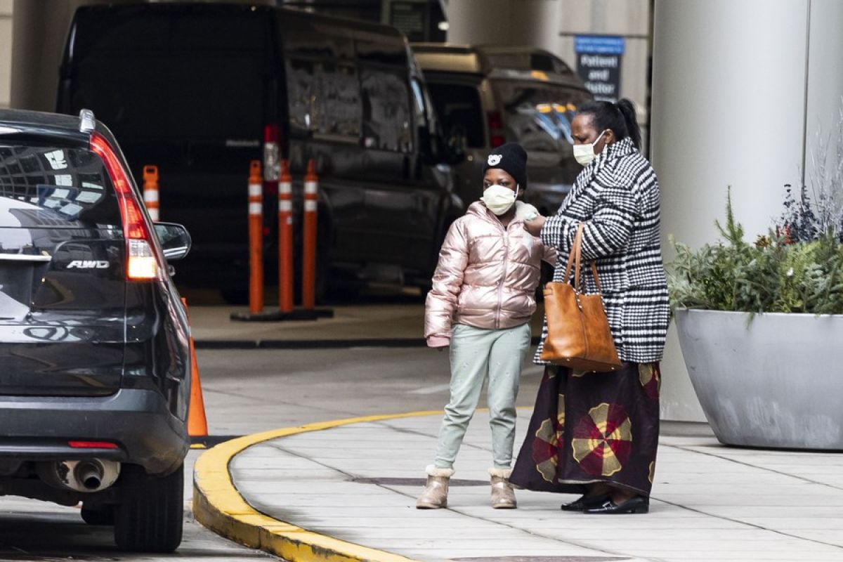
[[[96,154],[0,135],[0,394],[120,388],[125,253]]]

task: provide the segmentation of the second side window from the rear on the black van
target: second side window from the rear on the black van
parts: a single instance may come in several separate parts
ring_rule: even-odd
[[[412,116],[406,72],[362,64],[363,146],[411,153]]]

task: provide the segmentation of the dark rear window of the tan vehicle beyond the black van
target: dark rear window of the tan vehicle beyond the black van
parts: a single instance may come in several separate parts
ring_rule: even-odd
[[[446,138],[460,136],[467,147],[486,147],[483,110],[475,86],[429,83],[427,89]]]

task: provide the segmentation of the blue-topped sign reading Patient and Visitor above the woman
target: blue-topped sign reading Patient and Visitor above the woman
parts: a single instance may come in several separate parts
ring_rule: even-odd
[[[620,99],[620,58],[626,41],[612,35],[577,35],[577,74],[596,99]]]

